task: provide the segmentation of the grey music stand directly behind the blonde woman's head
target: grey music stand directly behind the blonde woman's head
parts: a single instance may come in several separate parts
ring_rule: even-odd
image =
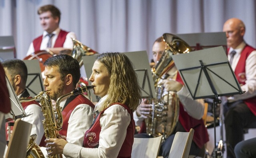
[[[124,53],[134,65],[134,70],[138,76],[138,82],[142,91],[142,98],[155,98],[154,82],[151,76],[151,68],[148,62],[146,51],[125,52]],[[83,65],[86,71],[86,76],[89,78],[92,74],[92,66],[96,60],[95,55],[83,56]],[[153,92],[152,92],[153,90]],[[92,101],[98,101],[98,98],[91,93]]]

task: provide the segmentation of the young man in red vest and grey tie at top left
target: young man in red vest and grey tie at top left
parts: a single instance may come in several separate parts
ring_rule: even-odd
[[[56,55],[63,49],[72,50],[72,39],[76,39],[76,35],[74,32],[60,29],[60,10],[53,5],[41,6],[38,9],[38,15],[44,32],[32,41],[27,55],[47,49]]]

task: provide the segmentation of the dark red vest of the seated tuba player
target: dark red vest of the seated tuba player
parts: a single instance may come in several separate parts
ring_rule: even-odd
[[[176,81],[180,82],[184,85],[180,74],[177,74]],[[182,127],[186,132],[189,132],[190,129],[194,129],[193,141],[199,148],[202,148],[206,142],[209,141],[209,136],[206,127],[204,126],[204,121],[202,119],[194,119],[184,110],[184,107],[181,102],[180,103],[180,113],[179,113],[179,121]],[[146,132],[146,126],[144,121],[142,122],[141,131],[139,133]]]

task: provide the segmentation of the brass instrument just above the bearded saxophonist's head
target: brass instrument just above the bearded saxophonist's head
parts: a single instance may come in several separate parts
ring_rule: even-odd
[[[71,53],[71,56],[78,60],[80,67],[83,65],[83,56],[88,56],[88,55],[94,55],[97,54],[98,52],[94,51],[90,47],[87,47],[86,45],[83,45],[80,41],[76,39],[72,39],[73,41],[73,50]]]

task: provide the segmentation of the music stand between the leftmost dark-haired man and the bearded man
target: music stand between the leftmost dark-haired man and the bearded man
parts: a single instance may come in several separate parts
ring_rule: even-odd
[[[23,60],[28,68],[26,88],[30,96],[36,96],[44,90],[43,79],[38,60]]]

